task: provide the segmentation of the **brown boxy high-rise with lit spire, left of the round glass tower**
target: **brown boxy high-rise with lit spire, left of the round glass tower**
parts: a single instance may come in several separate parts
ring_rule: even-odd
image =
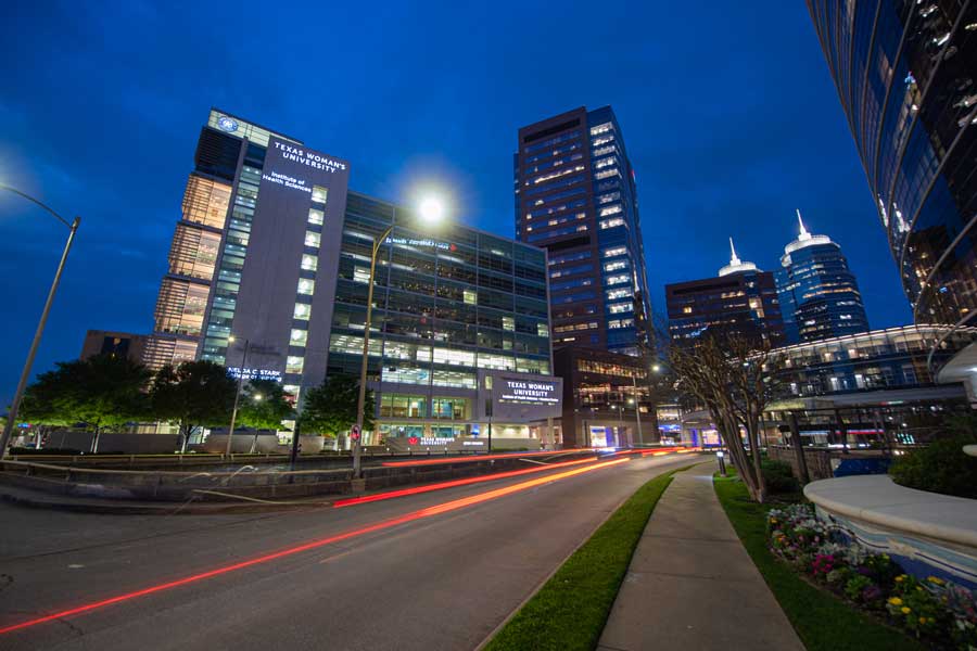
[[[744,261],[729,239],[729,264],[715,278],[665,285],[673,344],[694,345],[706,332],[747,337],[754,345],[784,343],[784,323],[773,273]]]

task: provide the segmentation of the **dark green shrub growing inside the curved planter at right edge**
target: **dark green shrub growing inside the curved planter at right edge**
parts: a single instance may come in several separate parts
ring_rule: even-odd
[[[973,433],[937,441],[897,459],[889,474],[908,488],[977,499],[977,458],[963,451],[975,443]]]

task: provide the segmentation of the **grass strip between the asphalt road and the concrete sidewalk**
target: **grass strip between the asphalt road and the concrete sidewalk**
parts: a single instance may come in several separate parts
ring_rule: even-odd
[[[486,651],[595,649],[655,505],[672,475],[688,468],[638,488],[498,631]]]

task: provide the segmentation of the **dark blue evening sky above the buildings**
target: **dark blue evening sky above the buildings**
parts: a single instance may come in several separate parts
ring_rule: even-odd
[[[0,178],[83,217],[38,355],[149,332],[212,105],[352,162],[405,201],[434,181],[467,224],[513,232],[516,130],[611,104],[667,282],[740,257],[773,269],[794,209],[848,254],[873,328],[911,316],[807,9],[708,3],[17,2],[0,24]],[[0,196],[0,397],[13,393],[63,237]]]

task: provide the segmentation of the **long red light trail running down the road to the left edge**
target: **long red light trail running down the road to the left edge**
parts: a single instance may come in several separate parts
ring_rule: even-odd
[[[280,551],[276,551],[272,553],[259,556],[257,558],[254,558],[254,559],[251,559],[248,561],[242,561],[240,563],[233,563],[231,565],[224,565],[221,567],[217,567],[215,570],[210,570],[207,572],[191,574],[190,576],[185,576],[183,578],[178,578],[176,580],[172,580],[168,583],[157,584],[155,586],[142,588],[141,590],[135,590],[131,592],[125,592],[123,595],[116,595],[115,597],[102,599],[101,601],[93,601],[93,602],[78,605],[75,608],[71,608],[67,610],[59,611],[59,612],[52,613],[50,615],[36,617],[34,620],[27,620],[26,622],[21,622],[18,624],[11,624],[11,625],[0,628],[0,635],[7,634],[7,633],[13,633],[14,630],[29,628],[31,626],[45,624],[47,622],[53,622],[55,620],[62,620],[64,617],[71,617],[73,615],[80,615],[80,614],[88,613],[88,612],[91,612],[97,609],[105,608],[106,605],[122,603],[124,601],[129,601],[131,599],[137,599],[139,597],[147,597],[149,595],[154,595],[156,592],[162,592],[164,590],[178,588],[180,586],[199,583],[199,582],[202,582],[202,580],[205,580],[208,578],[214,578],[215,576],[220,576],[223,574],[229,574],[229,573],[236,572],[238,570],[244,570],[246,567],[252,567],[254,565],[267,563],[269,561],[275,561],[277,559],[294,556],[296,553],[301,553],[303,551],[308,551],[310,549],[318,549],[320,547],[325,547],[326,545],[331,545],[332,542],[339,542],[341,540],[348,540],[350,538],[355,538],[355,537],[370,534],[373,532],[388,529],[388,528],[394,527],[398,524],[404,524],[404,523],[411,522],[415,520],[420,520],[422,518],[431,518],[432,515],[447,513],[449,511],[455,511],[458,509],[462,509],[465,507],[470,507],[470,506],[473,506],[477,503],[481,503],[484,501],[504,497],[506,495],[511,495],[512,493],[518,493],[520,490],[526,490],[534,486],[540,486],[542,484],[547,484],[549,482],[554,482],[557,480],[572,477],[574,475],[583,474],[585,472],[592,472],[594,470],[600,470],[600,469],[608,468],[611,465],[618,465],[619,463],[626,463],[627,461],[629,461],[627,459],[616,459],[614,461],[605,461],[601,463],[595,463],[593,465],[586,465],[583,468],[575,468],[573,470],[567,470],[563,472],[553,474],[553,475],[546,475],[544,477],[536,477],[536,478],[529,480],[525,482],[520,482],[519,484],[512,484],[511,486],[504,486],[502,488],[488,490],[487,493],[480,493],[478,495],[472,495],[469,497],[462,497],[460,499],[451,500],[447,502],[443,502],[441,505],[435,505],[433,507],[428,507],[428,508],[421,509],[419,511],[414,511],[411,513],[398,515],[396,518],[391,518],[389,520],[383,520],[383,521],[380,521],[375,524],[370,524],[370,525],[367,525],[367,526],[364,526],[364,527],[360,527],[357,529],[344,532],[342,534],[337,534],[334,536],[329,536],[326,538],[319,538],[317,540],[310,540],[303,545],[299,545],[299,546],[290,547],[288,549],[282,549]]]

